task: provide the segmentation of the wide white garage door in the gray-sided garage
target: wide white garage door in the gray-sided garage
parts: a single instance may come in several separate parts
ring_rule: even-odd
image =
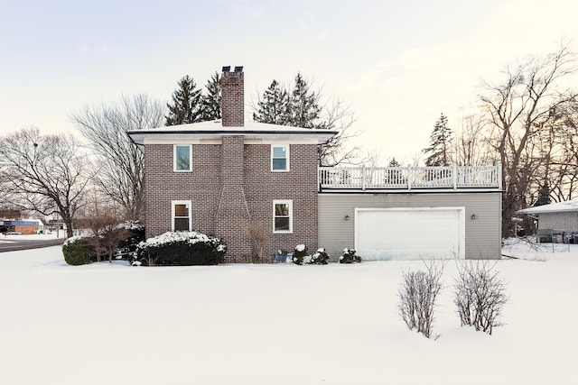
[[[356,208],[355,248],[365,260],[465,256],[464,207]]]

